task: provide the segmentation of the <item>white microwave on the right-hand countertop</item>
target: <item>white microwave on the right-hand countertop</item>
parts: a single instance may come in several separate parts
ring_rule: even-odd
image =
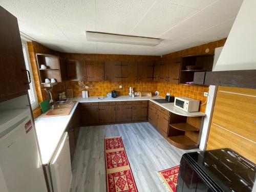
[[[198,112],[199,100],[188,97],[175,97],[174,106],[186,112]]]

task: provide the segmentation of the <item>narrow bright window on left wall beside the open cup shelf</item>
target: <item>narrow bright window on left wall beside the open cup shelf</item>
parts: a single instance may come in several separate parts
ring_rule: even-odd
[[[33,73],[32,73],[31,64],[29,60],[28,46],[26,41],[22,41],[22,49],[23,49],[26,68],[30,72],[31,83],[29,84],[30,89],[28,90],[28,93],[29,93],[29,99],[30,99],[32,110],[34,110],[38,106],[38,101],[36,97],[35,83],[33,79]]]

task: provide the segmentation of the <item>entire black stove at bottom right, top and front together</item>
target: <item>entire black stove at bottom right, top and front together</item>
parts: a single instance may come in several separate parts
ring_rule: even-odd
[[[180,161],[177,192],[252,191],[256,165],[230,148],[186,153]]]

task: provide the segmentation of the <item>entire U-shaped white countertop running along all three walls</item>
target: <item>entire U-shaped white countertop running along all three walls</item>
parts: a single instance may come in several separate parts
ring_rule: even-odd
[[[105,101],[138,101],[138,100],[150,100],[162,108],[175,113],[177,115],[187,117],[200,117],[205,116],[201,112],[188,113],[180,110],[174,106],[174,103],[158,103],[153,99],[163,99],[163,97],[152,96],[152,97],[129,97],[119,96],[117,98],[104,98],[98,99],[99,97],[79,98],[75,97],[72,100],[77,101],[69,115],[55,116],[55,117],[38,117],[35,119],[35,129],[38,138],[38,145],[41,153],[42,164],[48,164],[52,158],[53,153],[58,146],[58,143],[64,134],[72,115],[77,108],[79,102],[105,102]],[[100,97],[102,98],[102,97]]]

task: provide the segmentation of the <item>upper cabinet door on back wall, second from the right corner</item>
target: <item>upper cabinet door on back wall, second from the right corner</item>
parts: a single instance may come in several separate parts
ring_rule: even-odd
[[[135,81],[138,79],[138,62],[122,61],[122,80]]]

